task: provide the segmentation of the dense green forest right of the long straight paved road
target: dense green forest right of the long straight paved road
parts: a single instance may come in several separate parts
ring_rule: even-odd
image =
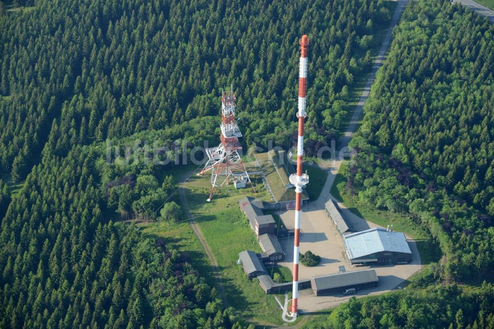
[[[434,278],[494,271],[494,26],[448,1],[409,6],[352,141],[347,191],[410,213],[442,249]]]

